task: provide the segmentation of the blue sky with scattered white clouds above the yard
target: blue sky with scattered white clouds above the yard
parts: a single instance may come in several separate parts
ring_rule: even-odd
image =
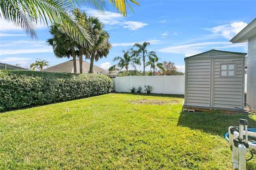
[[[89,16],[104,23],[110,35],[112,48],[106,58],[94,65],[108,69],[118,63],[113,58],[123,57],[134,43],[149,42],[149,51],[155,51],[160,62],[175,63],[184,72],[184,58],[211,49],[247,53],[247,43],[230,40],[256,18],[256,0],[139,0],[132,4],[134,13],[127,7],[127,17],[108,6],[106,14],[99,14],[88,6],[80,6]],[[21,28],[0,19],[0,62],[29,67],[36,59],[49,61],[50,66],[69,61],[58,59],[46,41],[52,36],[49,28],[38,25],[39,40],[32,40]],[[85,60],[85,58],[84,58]],[[90,62],[90,60],[85,60]],[[147,59],[146,59],[147,61]],[[46,67],[44,67],[46,68]],[[129,69],[134,69],[131,66]],[[143,71],[143,65],[137,66]],[[146,67],[149,71],[150,67]]]

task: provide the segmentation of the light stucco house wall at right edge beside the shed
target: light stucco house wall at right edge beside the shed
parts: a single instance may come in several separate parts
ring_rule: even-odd
[[[256,35],[248,40],[246,103],[256,109]]]

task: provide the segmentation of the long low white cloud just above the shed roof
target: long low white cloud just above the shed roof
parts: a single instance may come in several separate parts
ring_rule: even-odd
[[[174,45],[156,51],[163,53],[184,54],[186,57],[196,55],[210,49],[225,49],[230,47],[246,47],[247,43],[232,44],[231,42],[202,42],[184,45]]]

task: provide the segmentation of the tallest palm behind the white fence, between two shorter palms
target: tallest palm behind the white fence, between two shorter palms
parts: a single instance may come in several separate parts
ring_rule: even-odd
[[[149,46],[150,43],[149,42],[144,42],[143,44],[140,44],[140,43],[135,43],[134,47],[138,47],[137,50],[133,50],[133,55],[135,55],[136,57],[139,57],[139,59],[142,57],[142,61],[143,61],[143,75],[145,75],[145,66],[146,66],[146,56],[150,56],[151,53],[155,53],[154,51],[150,51],[148,53],[146,47]]]

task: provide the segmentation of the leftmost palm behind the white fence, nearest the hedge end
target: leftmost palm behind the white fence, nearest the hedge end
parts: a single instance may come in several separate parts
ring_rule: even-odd
[[[136,64],[140,65],[140,59],[132,55],[131,49],[128,49],[127,51],[122,50],[122,53],[124,53],[123,58],[120,56],[114,57],[113,61],[119,61],[117,63],[117,67],[120,69],[125,67],[126,75],[128,75],[129,65],[132,65],[132,67],[136,68]]]

